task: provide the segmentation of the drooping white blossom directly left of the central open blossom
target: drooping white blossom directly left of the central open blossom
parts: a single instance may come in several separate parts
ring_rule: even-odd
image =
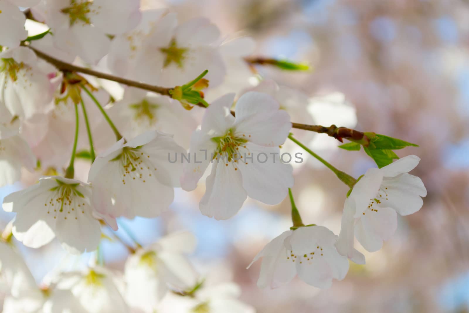
[[[181,163],[169,162],[174,153],[185,150],[172,136],[151,130],[98,155],[88,176],[91,201],[114,230],[118,216],[156,217],[173,202],[182,173]]]

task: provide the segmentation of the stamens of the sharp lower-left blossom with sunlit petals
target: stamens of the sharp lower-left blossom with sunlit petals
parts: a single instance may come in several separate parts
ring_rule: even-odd
[[[75,217],[78,220],[78,214],[84,214],[85,206],[87,206],[83,200],[83,194],[76,190],[78,183],[67,184],[59,180],[57,180],[57,183],[59,185],[50,189],[50,191],[53,191],[53,194],[44,203],[44,206],[47,208],[47,214],[53,214],[54,219],[57,219],[57,216],[63,213],[65,220],[67,220],[67,216],[69,218]]]

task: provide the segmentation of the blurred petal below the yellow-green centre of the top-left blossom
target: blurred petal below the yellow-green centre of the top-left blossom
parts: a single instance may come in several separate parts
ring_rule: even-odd
[[[98,64],[108,52],[111,40],[98,28],[91,25],[74,25],[54,31],[54,44],[70,54],[76,53],[83,61]],[[93,43],[90,45],[90,43]]]

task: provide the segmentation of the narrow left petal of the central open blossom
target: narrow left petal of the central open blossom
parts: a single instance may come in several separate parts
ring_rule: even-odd
[[[203,133],[201,130],[195,130],[192,133],[190,141],[190,149],[188,157],[190,161],[184,162],[180,160],[181,155],[178,156],[177,162],[183,162],[183,172],[181,176],[181,187],[185,191],[192,191],[196,189],[197,183],[204,175],[205,170],[212,161],[212,154],[216,148],[215,142],[211,140],[211,136]],[[185,153],[187,154],[187,153]],[[173,156],[171,156],[171,160]]]

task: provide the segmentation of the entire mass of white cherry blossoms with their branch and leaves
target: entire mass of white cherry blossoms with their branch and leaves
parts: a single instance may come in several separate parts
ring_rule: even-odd
[[[43,32],[28,29],[36,32],[28,37],[25,16]],[[195,239],[185,232],[128,247],[122,275],[101,260],[54,273],[41,288],[10,246],[12,236],[30,248],[56,238],[71,254],[95,251],[106,224],[116,231],[119,218],[158,217],[173,203],[174,188],[194,191],[206,172],[199,209],[216,220],[233,217],[248,196],[277,205],[290,195],[292,228],[254,258],[262,258],[259,287],[298,275],[328,288],[345,278],[348,259],[365,263],[355,239],[375,252],[396,231],[397,214],[423,206],[424,184],[408,174],[420,159],[392,163],[398,159],[392,149],[413,144],[347,128],[356,117],[340,93],[308,99],[272,80],[256,81],[256,59],[247,58],[254,41],[223,41],[205,18],[180,22],[167,9],[142,10],[139,0],[2,0],[0,25],[0,187],[25,184],[3,200],[3,210],[16,213],[0,242],[0,290],[8,290],[3,312],[166,312],[174,297],[183,312],[253,312],[237,300],[237,286],[206,288],[187,258]],[[337,97],[339,105],[333,101],[326,110],[347,111],[339,120],[345,127],[290,121],[317,121],[318,101]],[[195,106],[205,107],[203,114],[188,112]],[[386,158],[356,180],[296,140],[292,127],[348,139],[342,148],[363,146],[375,160],[376,151]],[[285,153],[294,150],[281,150],[287,138],[350,187],[338,236],[303,224],[291,191],[292,156]],[[81,171],[78,160],[86,161]],[[36,183],[22,180],[22,168]]]

